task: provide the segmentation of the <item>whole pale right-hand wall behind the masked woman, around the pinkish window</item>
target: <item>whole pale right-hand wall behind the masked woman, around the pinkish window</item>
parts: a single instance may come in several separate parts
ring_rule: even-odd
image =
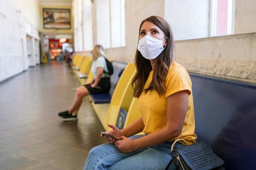
[[[96,31],[96,1],[92,4],[93,44],[97,44],[97,36],[102,36]],[[158,15],[171,24],[176,60],[188,71],[256,82],[256,1],[236,0],[234,29],[237,35],[207,38],[209,2],[126,0],[126,46],[106,49],[106,56],[120,62],[134,62],[141,20]]]

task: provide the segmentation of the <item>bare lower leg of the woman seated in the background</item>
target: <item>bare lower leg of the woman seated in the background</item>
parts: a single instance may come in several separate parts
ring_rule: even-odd
[[[79,87],[76,89],[76,96],[74,99],[73,104],[70,106],[70,108],[68,108],[68,112],[69,113],[73,113],[74,115],[77,114],[81,103],[83,101],[83,97],[85,97],[86,95],[89,95],[89,91],[87,90],[87,88],[85,86]]]

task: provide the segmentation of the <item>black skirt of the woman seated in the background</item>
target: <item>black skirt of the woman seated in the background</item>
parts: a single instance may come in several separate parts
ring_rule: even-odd
[[[99,81],[98,85],[100,88],[93,88],[91,85],[84,85],[90,94],[97,94],[97,93],[108,93],[110,90],[110,77],[103,77]]]

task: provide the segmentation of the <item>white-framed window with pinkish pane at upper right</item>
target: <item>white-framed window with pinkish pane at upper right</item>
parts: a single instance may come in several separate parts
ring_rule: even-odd
[[[234,33],[235,0],[211,0],[210,36]]]

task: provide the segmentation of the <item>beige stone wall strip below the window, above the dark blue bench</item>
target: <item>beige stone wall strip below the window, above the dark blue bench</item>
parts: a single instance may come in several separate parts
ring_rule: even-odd
[[[176,60],[188,71],[256,80],[256,33],[177,41]]]

